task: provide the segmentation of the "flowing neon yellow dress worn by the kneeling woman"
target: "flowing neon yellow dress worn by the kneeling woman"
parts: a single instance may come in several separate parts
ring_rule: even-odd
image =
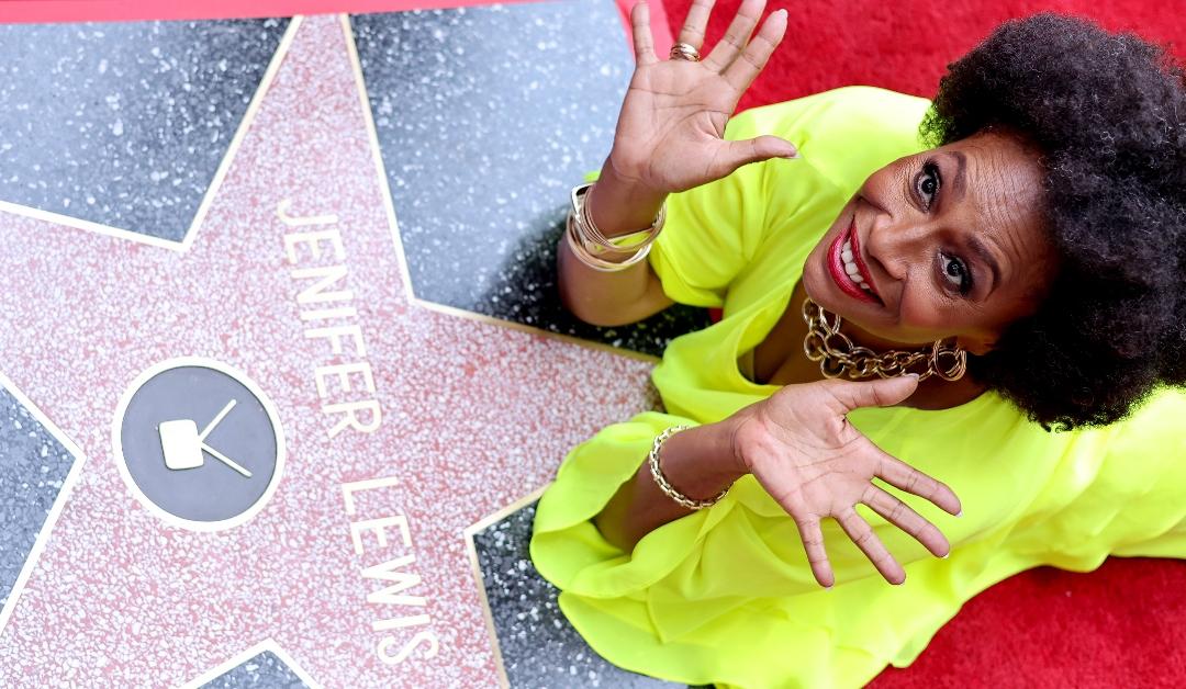
[[[893,491],[952,544],[939,560],[863,506],[905,566],[887,585],[828,521],[836,586],[821,589],[795,523],[753,477],[718,505],[645,536],[633,553],[589,519],[643,462],[655,435],[709,423],[771,395],[739,356],[788,306],[803,261],[865,178],[920,149],[929,102],[847,88],[737,116],[727,136],[776,133],[803,160],[772,160],[672,196],[651,254],[676,301],[723,319],[674,340],[655,369],[667,414],[610,426],[566,458],[543,495],[531,557],[599,653],[646,675],[723,687],[857,687],[908,665],[959,606],[1024,569],[1090,570],[1109,554],[1186,557],[1186,395],[1165,391],[1129,421],[1050,434],[995,394],[938,412],[860,409],[878,446],[948,483],[963,517]]]

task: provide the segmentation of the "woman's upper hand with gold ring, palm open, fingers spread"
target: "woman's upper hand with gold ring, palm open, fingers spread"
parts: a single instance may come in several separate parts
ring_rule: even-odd
[[[747,162],[795,157],[777,136],[725,141],[725,125],[786,31],[786,11],[772,13],[751,40],[765,0],[745,0],[723,39],[701,62],[659,59],[650,12],[635,5],[631,23],[637,66],[621,106],[610,164],[617,174],[656,193],[720,179]],[[713,0],[695,0],[680,43],[697,51]]]

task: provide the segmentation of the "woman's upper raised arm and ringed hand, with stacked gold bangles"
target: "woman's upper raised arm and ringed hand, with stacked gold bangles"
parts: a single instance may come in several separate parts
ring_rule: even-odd
[[[774,12],[746,45],[763,5],[748,0],[729,27],[729,40],[702,62],[659,60],[646,4],[635,6],[637,68],[618,115],[613,147],[587,198],[602,234],[613,237],[649,227],[669,193],[725,178],[748,162],[797,155],[791,143],[777,136],[723,140],[728,115],[786,28],[786,12]],[[697,5],[689,15],[701,32],[707,20],[708,5]],[[594,270],[573,255],[563,238],[556,254],[561,300],[582,320],[623,325],[672,302],[646,262],[617,273]],[[624,261],[631,255],[605,259]]]

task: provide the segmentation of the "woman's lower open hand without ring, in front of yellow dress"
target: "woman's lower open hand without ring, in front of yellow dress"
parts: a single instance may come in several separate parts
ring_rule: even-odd
[[[788,385],[739,413],[734,452],[798,524],[811,572],[821,586],[835,581],[820,529],[821,519],[827,517],[840,523],[887,581],[901,583],[906,579],[901,564],[856,513],[857,503],[868,505],[932,554],[942,557],[950,550],[933,524],[878,487],[873,479],[926,498],[952,515],[959,513],[959,498],[944,484],[886,454],[846,417],[860,407],[897,404],[917,385],[912,376]]]

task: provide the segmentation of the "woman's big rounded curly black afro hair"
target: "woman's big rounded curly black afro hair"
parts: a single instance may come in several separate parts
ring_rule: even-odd
[[[937,146],[989,128],[1038,151],[1060,267],[969,375],[1046,429],[1112,423],[1186,384],[1181,65],[1084,19],[1012,20],[949,65],[922,135]]]

